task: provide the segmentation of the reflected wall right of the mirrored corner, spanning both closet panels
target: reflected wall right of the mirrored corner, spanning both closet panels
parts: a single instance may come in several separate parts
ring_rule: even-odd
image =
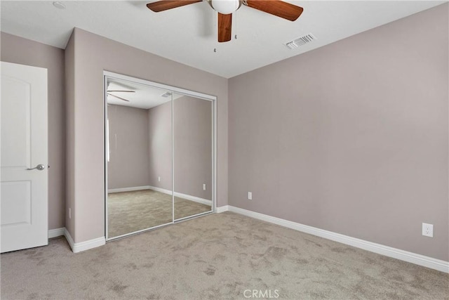
[[[170,103],[153,107],[149,115],[149,185],[171,189],[160,174],[171,164]],[[212,103],[188,96],[173,103],[175,192],[212,200]],[[166,132],[165,135],[162,133]],[[161,176],[161,181],[159,181]],[[203,190],[206,184],[206,190]]]

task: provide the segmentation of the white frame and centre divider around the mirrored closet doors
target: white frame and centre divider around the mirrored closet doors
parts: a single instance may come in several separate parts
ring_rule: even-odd
[[[175,164],[174,164],[174,136],[173,136],[173,99],[171,100],[171,124],[172,124],[172,164],[171,164],[171,176],[172,176],[172,221],[170,223],[166,223],[166,224],[161,224],[159,226],[154,226],[151,228],[146,228],[146,229],[142,229],[142,230],[138,230],[135,231],[133,233],[127,233],[126,235],[119,235],[117,237],[109,237],[108,235],[108,223],[109,223],[109,217],[108,217],[108,211],[107,211],[107,194],[108,194],[108,176],[107,176],[107,157],[108,157],[108,153],[107,153],[107,81],[108,79],[119,79],[119,80],[123,80],[123,81],[130,81],[133,83],[137,83],[137,84],[142,84],[145,86],[149,86],[152,88],[156,88],[156,89],[165,89],[168,91],[171,91],[172,93],[178,93],[178,94],[182,94],[184,96],[191,96],[191,97],[195,97],[195,98],[200,98],[203,100],[208,100],[212,103],[212,207],[210,209],[210,211],[206,211],[203,212],[201,214],[194,214],[192,216],[187,216],[185,218],[182,219],[177,219],[175,220],[175,193],[174,193],[174,187],[175,187]],[[155,82],[155,81],[149,81],[146,79],[140,79],[137,77],[131,77],[128,75],[124,75],[124,74],[119,74],[119,73],[115,73],[115,72],[110,72],[107,70],[103,70],[103,124],[105,126],[105,237],[106,237],[106,242],[110,241],[110,240],[116,240],[119,239],[121,237],[125,237],[128,235],[134,235],[137,233],[142,233],[144,231],[147,230],[153,230],[156,228],[160,228],[162,226],[167,226],[169,224],[173,224],[173,223],[179,223],[182,221],[186,221],[189,219],[194,219],[197,218],[199,216],[203,216],[206,214],[213,214],[215,212],[217,212],[217,96],[213,96],[213,95],[209,95],[206,93],[201,93],[198,91],[192,91],[189,89],[182,89],[180,87],[176,87],[176,86],[170,86],[168,84],[161,84],[159,82]]]

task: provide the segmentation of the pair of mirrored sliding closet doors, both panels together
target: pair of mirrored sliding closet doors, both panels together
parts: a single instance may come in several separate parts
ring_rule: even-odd
[[[105,72],[107,240],[213,212],[214,99]]]

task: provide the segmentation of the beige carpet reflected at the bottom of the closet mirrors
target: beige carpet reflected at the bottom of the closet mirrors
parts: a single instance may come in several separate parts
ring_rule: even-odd
[[[107,197],[109,237],[133,233],[172,221],[171,195],[154,190],[135,190],[109,193]],[[175,219],[210,210],[210,205],[175,197]]]

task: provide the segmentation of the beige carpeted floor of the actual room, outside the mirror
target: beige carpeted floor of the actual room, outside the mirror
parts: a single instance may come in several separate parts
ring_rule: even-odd
[[[63,237],[1,254],[4,300],[248,299],[253,289],[259,299],[448,299],[449,275],[230,212],[78,254]]]

